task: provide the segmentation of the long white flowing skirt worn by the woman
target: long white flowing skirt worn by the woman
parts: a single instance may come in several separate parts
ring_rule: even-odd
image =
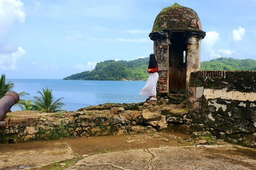
[[[156,84],[158,80],[158,73],[150,73],[146,85],[140,91],[141,96],[156,96]]]

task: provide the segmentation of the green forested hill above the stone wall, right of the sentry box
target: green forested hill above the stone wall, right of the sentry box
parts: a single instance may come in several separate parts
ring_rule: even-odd
[[[253,59],[216,58],[201,63],[201,70],[256,70]]]

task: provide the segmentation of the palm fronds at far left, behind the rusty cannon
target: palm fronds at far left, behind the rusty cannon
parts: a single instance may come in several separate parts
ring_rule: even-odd
[[[4,97],[4,95],[8,92],[8,91],[12,91],[14,88],[14,84],[12,82],[8,82],[6,83],[5,81],[5,75],[2,74],[1,78],[0,78],[0,99],[2,97]],[[28,93],[26,92],[20,92],[18,93],[18,95],[20,97],[22,96],[26,96],[26,95],[29,95]],[[20,99],[20,101],[23,100],[23,99]]]

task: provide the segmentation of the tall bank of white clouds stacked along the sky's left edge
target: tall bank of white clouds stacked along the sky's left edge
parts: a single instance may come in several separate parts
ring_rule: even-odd
[[[23,3],[20,0],[0,0],[0,69],[16,69],[15,63],[26,53],[21,46],[8,42],[8,33],[13,24],[25,22]]]

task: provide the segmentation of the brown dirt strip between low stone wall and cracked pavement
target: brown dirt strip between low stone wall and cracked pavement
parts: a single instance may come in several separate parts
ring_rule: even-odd
[[[167,135],[175,135],[182,139],[188,138],[189,135],[180,133],[165,133]],[[15,150],[31,150],[40,147],[54,148],[52,143],[56,142],[67,142],[72,148],[76,156],[82,155],[94,155],[105,152],[115,152],[128,149],[147,149],[152,147],[158,147],[161,145],[165,146],[185,146],[187,143],[178,142],[177,140],[170,139],[169,141],[161,140],[166,138],[164,135],[148,135],[148,134],[137,134],[137,135],[119,135],[119,136],[94,136],[94,137],[79,137],[73,139],[62,139],[62,140],[48,140],[48,141],[34,141],[25,143],[14,143],[14,144],[0,144],[0,152],[12,152]],[[150,137],[150,138],[147,138]],[[126,141],[136,140],[131,143]]]

